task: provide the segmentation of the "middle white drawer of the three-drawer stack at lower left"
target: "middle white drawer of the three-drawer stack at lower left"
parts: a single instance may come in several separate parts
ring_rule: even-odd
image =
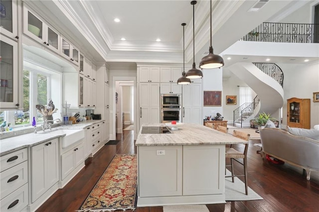
[[[0,173],[1,198],[28,182],[28,163],[24,161]]]

